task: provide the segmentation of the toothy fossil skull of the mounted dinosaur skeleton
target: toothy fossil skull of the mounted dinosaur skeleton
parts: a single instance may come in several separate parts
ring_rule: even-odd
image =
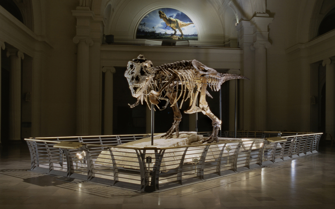
[[[139,55],[133,61],[128,62],[125,77],[128,80],[132,96],[137,98],[137,102],[131,107],[138,105],[139,101],[143,104],[144,93],[154,77],[152,62],[145,59],[143,55]]]

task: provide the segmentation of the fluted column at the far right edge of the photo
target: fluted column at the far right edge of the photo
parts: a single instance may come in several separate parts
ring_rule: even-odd
[[[335,137],[335,59],[328,58],[322,63],[326,66],[326,133]]]

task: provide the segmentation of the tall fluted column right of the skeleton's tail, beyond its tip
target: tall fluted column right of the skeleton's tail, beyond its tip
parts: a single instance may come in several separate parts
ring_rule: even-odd
[[[268,41],[256,41],[255,50],[255,131],[266,130],[266,48]]]

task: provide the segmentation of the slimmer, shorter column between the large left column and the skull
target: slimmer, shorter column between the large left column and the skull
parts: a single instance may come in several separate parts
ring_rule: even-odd
[[[113,73],[115,68],[103,67],[105,73],[104,135],[113,134]]]

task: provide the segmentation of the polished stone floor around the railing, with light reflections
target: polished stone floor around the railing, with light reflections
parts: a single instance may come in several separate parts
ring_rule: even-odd
[[[29,171],[25,144],[0,147],[0,208],[335,208],[335,145],[256,170],[157,193]]]

